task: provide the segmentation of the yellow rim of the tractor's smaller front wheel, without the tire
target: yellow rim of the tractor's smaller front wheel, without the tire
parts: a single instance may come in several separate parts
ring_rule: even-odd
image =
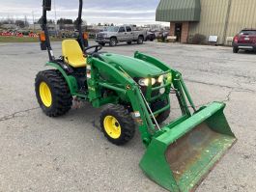
[[[113,116],[106,116],[103,124],[109,137],[118,139],[121,136],[121,125],[116,118]]]

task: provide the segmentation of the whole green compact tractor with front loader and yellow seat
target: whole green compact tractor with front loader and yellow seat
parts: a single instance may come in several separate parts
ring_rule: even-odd
[[[62,56],[56,59],[46,19],[51,0],[43,0],[41,47],[48,51],[46,66],[53,68],[36,77],[44,114],[66,114],[74,97],[94,107],[107,106],[100,126],[108,141],[124,145],[138,130],[147,149],[140,161],[145,174],[173,192],[195,189],[237,140],[223,114],[225,104],[196,109],[179,71],[140,52],[127,57],[88,46],[81,29],[83,1],[79,3],[79,37],[64,40]],[[170,95],[177,97],[182,116],[160,125],[171,112]]]

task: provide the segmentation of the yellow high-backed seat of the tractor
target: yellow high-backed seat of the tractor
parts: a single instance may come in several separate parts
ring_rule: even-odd
[[[62,55],[64,57],[64,61],[72,68],[86,67],[87,59],[84,57],[83,51],[77,41],[62,41]]]

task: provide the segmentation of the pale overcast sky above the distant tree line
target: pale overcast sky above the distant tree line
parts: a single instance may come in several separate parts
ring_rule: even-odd
[[[158,23],[156,7],[160,0],[84,0],[83,19],[88,23],[147,24]],[[57,19],[77,17],[78,0],[55,0]],[[54,0],[52,0],[54,10]],[[42,15],[42,0],[0,0],[1,18],[23,18],[32,21]],[[54,12],[49,18],[54,18]]]

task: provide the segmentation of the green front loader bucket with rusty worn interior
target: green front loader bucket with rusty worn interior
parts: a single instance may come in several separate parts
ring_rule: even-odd
[[[172,192],[194,191],[237,140],[224,108],[213,102],[184,122],[163,127],[141,159],[141,169]]]

